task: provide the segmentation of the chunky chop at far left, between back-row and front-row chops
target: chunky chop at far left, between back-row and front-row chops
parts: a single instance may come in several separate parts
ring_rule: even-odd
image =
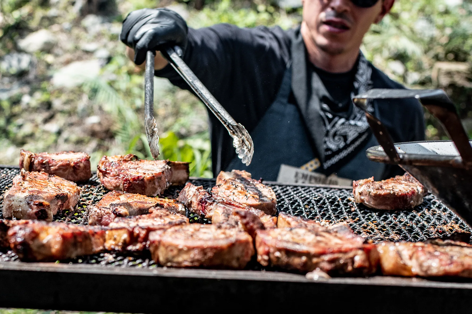
[[[74,210],[79,194],[74,182],[22,169],[4,195],[3,217],[52,221],[58,211]]]

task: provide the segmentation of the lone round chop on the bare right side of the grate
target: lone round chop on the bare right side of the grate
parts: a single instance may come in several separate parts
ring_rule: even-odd
[[[354,181],[353,193],[356,203],[393,210],[420,205],[428,191],[418,180],[405,173],[383,181],[374,181],[374,177]]]

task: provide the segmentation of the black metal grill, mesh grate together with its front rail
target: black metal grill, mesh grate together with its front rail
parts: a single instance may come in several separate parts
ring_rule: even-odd
[[[0,208],[4,192],[11,187],[12,179],[18,173],[17,167],[0,165]],[[202,185],[205,189],[211,188],[215,183],[213,179],[202,178],[191,178],[190,182]],[[277,195],[279,212],[325,223],[346,222],[357,234],[374,242],[424,241],[455,233],[471,233],[466,223],[431,194],[413,210],[383,211],[354,203],[352,189],[347,187],[265,183],[271,186]],[[75,213],[57,215],[54,217],[55,221],[86,223],[85,207],[98,202],[108,192],[96,175],[79,186],[81,195],[78,210]],[[180,189],[181,187],[171,187],[164,196],[176,198]],[[187,216],[193,223],[209,223],[191,213],[187,213]],[[1,212],[0,218],[3,218]],[[102,253],[58,261],[56,264],[24,263],[20,262],[12,251],[3,250],[0,253],[0,280],[9,282],[10,288],[13,288],[11,282],[17,283],[15,289],[3,289],[3,293],[0,293],[0,306],[144,313],[156,311],[156,306],[175,307],[173,302],[182,303],[184,299],[187,301],[183,302],[180,308],[195,309],[193,303],[201,302],[200,298],[205,304],[224,305],[237,294],[238,299],[244,296],[255,303],[261,301],[261,297],[270,299],[270,302],[263,302],[263,308],[268,310],[272,306],[280,309],[279,306],[286,302],[290,302],[293,309],[295,300],[297,306],[312,305],[315,295],[319,296],[320,301],[326,301],[330,298],[336,299],[339,293],[342,293],[343,301],[346,301],[342,304],[345,304],[346,308],[350,304],[349,308],[352,310],[350,306],[353,303],[348,302],[351,298],[355,303],[359,300],[357,297],[370,295],[370,306],[373,305],[372,302],[379,302],[378,306],[381,306],[382,311],[389,312],[402,308],[402,305],[408,306],[409,310],[438,310],[441,308],[438,300],[443,300],[441,304],[451,311],[452,308],[462,309],[462,306],[468,306],[468,300],[472,299],[472,283],[458,282],[456,279],[441,278],[441,281],[431,281],[374,276],[308,281],[300,274],[264,269],[255,260],[250,262],[244,271],[231,271],[159,267],[152,261],[148,252],[139,255]],[[126,290],[126,300],[120,300],[122,293],[110,289],[115,284]],[[47,289],[44,289],[45,285]],[[36,286],[37,288],[33,289]],[[84,292],[77,292],[80,297],[71,296],[71,286],[74,286],[74,291],[88,291],[93,288],[93,293],[84,295]],[[132,287],[138,289],[139,293]],[[32,298],[28,294],[30,292],[37,297]],[[194,299],[186,293],[197,295]],[[388,305],[385,301],[385,293],[389,294],[388,299],[392,300],[392,304]],[[392,298],[392,294],[401,299]],[[52,295],[54,297],[51,297]],[[61,298],[61,295],[64,297]],[[148,299],[143,297],[146,295],[149,295]],[[156,297],[157,295],[160,297]],[[139,302],[131,302],[132,296]],[[419,297],[425,302],[418,303]],[[447,302],[447,299],[452,301],[451,298],[454,299],[453,305]],[[247,308],[246,303],[243,304],[235,306]],[[342,304],[338,306],[343,306]]]

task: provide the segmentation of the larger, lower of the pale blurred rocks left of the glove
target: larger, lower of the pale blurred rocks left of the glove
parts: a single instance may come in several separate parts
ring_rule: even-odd
[[[55,87],[74,87],[98,76],[100,60],[76,61],[64,66],[52,75],[51,83]]]

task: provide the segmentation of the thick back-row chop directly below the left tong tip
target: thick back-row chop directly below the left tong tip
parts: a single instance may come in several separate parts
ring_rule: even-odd
[[[103,156],[97,166],[97,176],[107,189],[146,196],[160,195],[171,184],[185,184],[188,174],[188,163],[144,160],[133,154]]]

